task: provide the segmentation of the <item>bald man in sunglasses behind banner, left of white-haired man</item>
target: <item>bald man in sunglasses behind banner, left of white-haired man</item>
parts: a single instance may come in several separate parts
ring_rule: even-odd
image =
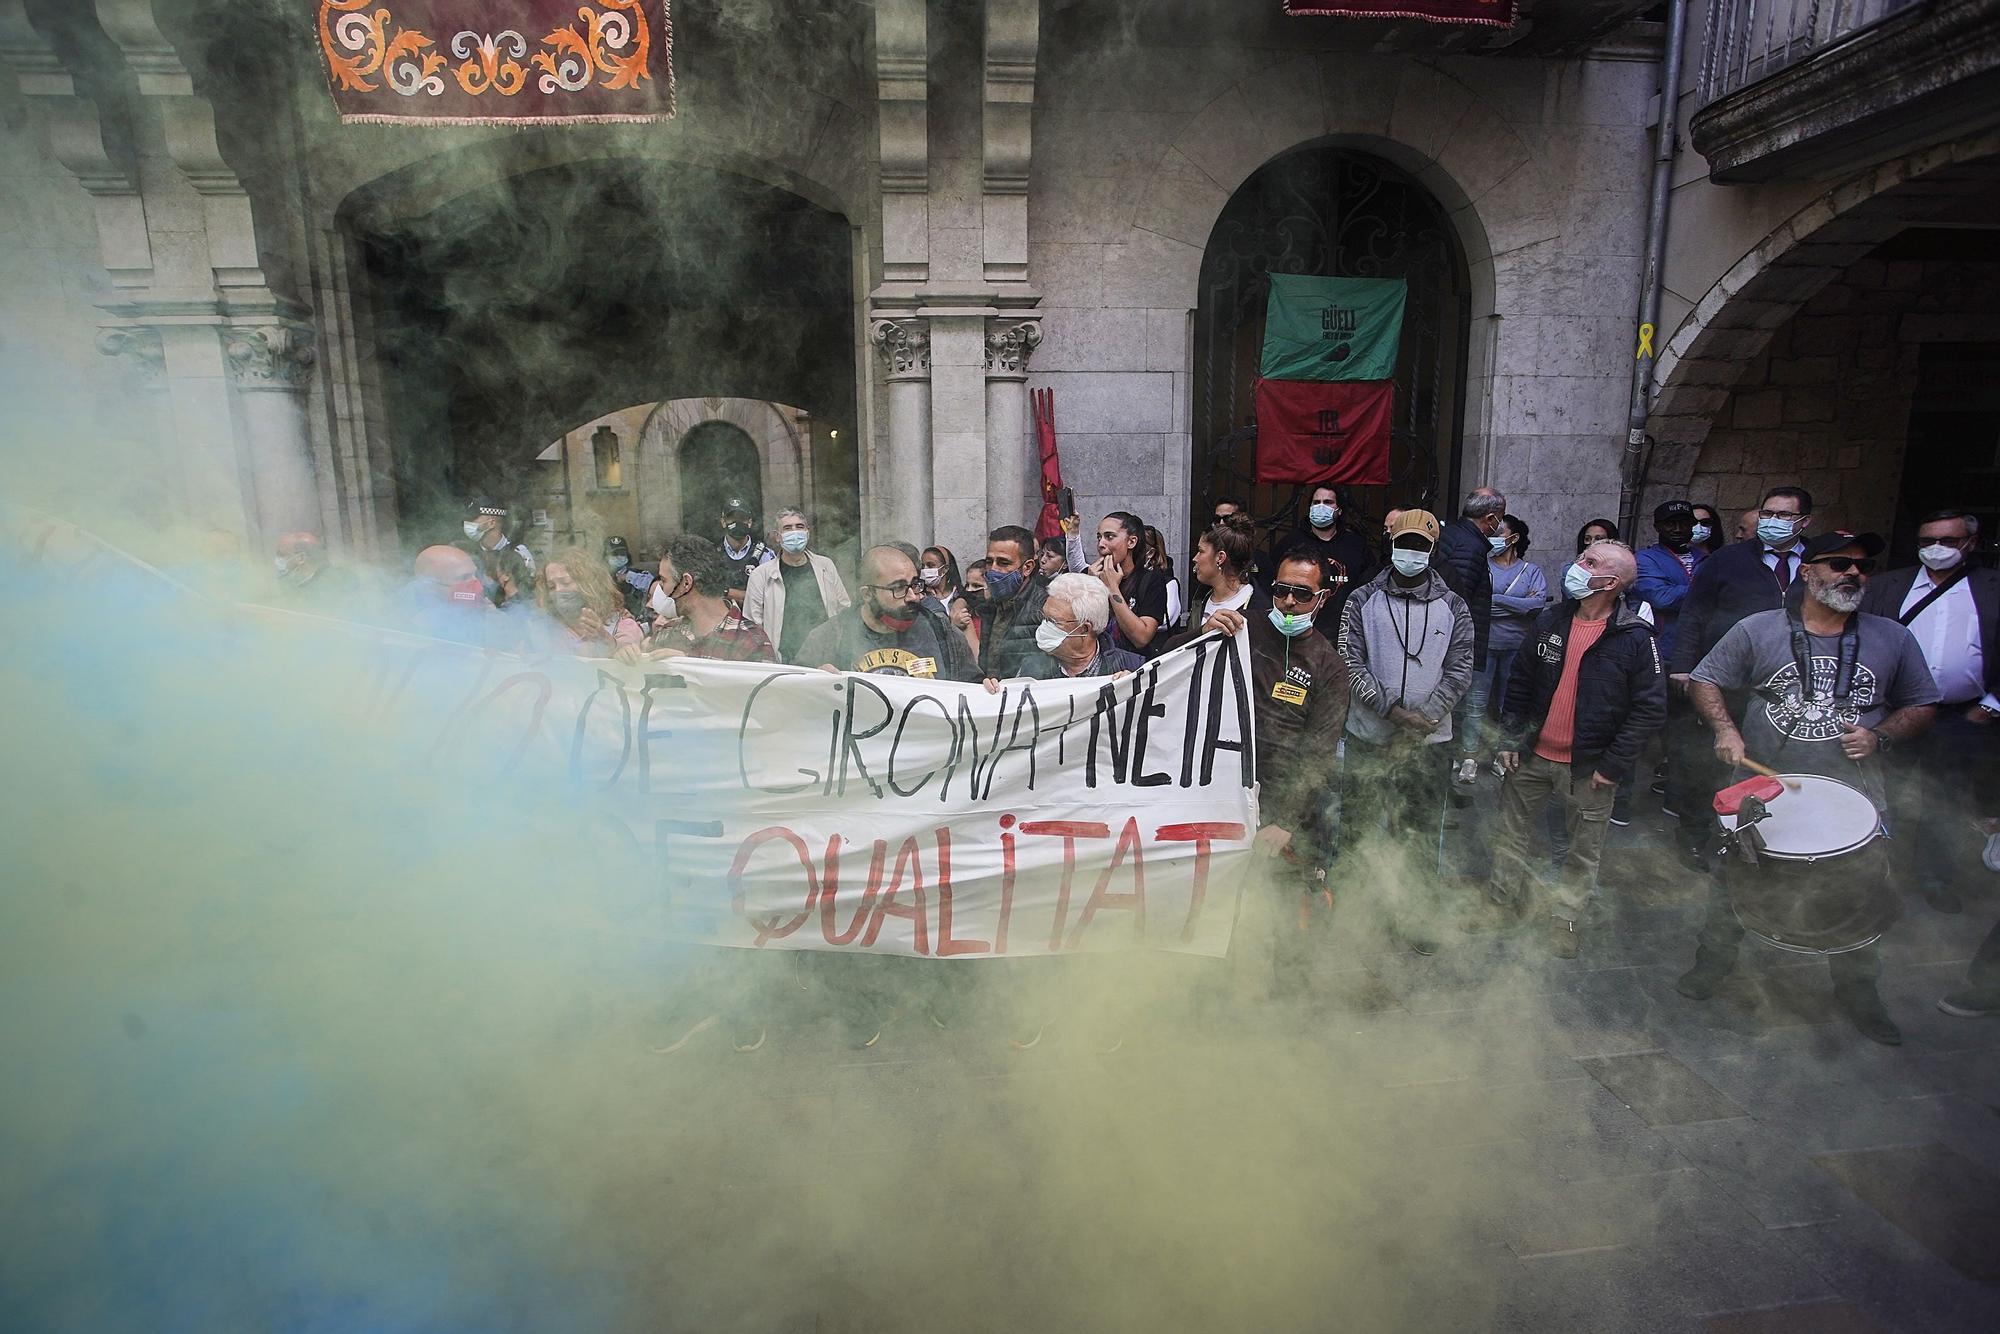
[[[916,562],[894,546],[862,554],[860,600],[816,626],[798,660],[828,672],[886,672],[942,680],[978,680],[972,646],[924,606]]]

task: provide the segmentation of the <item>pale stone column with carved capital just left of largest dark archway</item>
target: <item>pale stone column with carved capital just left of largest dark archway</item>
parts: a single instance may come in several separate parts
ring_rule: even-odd
[[[306,430],[312,342],[312,328],[290,322],[222,330],[262,546],[272,546],[284,532],[322,528],[312,436]]]

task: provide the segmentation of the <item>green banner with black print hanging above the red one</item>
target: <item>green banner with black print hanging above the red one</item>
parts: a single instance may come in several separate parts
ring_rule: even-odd
[[[1402,278],[1272,274],[1266,380],[1390,380],[1402,342]]]

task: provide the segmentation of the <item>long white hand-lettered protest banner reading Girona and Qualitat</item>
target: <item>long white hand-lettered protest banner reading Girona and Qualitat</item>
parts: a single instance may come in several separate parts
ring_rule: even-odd
[[[52,534],[70,544],[62,556]],[[114,558],[202,598],[60,520],[36,550],[78,568]],[[940,960],[1228,952],[1258,826],[1242,636],[1202,636],[1122,680],[988,694],[892,674],[508,652],[498,646],[520,622],[484,604],[422,616],[430,636],[212,606],[360,652],[350,698],[326,704],[384,734],[384,766],[584,794],[656,876],[648,898],[662,914],[640,930]],[[578,830],[580,846],[598,838]]]

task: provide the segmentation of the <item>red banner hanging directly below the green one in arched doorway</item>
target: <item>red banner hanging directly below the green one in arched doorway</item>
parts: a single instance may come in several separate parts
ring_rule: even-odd
[[[1388,484],[1394,380],[1258,380],[1256,480]]]

